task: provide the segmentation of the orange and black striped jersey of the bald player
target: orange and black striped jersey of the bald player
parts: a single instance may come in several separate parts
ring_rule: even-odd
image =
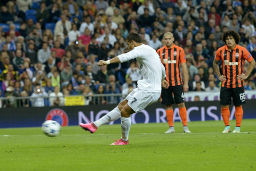
[[[166,81],[170,86],[183,85],[180,73],[180,63],[186,62],[183,48],[173,44],[171,48],[166,46],[157,50],[162,64],[166,70]]]

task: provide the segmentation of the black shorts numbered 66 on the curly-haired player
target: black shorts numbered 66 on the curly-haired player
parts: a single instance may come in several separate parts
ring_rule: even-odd
[[[231,104],[231,98],[235,106],[240,106],[246,103],[246,94],[244,87],[237,88],[220,88],[220,105],[226,106]]]

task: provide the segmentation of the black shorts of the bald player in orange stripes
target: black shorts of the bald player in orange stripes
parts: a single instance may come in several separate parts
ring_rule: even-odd
[[[174,100],[172,97],[174,95]],[[169,86],[167,89],[162,88],[161,92],[162,104],[179,104],[184,102],[184,91],[183,86]]]

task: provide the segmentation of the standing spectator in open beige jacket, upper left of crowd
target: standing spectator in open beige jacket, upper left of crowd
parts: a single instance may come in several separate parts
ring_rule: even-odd
[[[64,43],[68,32],[72,29],[71,22],[67,20],[64,14],[61,15],[61,20],[56,22],[54,29],[54,40],[56,40],[57,35],[61,36],[61,43]]]

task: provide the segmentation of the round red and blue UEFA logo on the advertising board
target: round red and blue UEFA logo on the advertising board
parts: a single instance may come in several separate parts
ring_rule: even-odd
[[[46,121],[52,120],[58,122],[61,126],[68,125],[68,116],[62,109],[53,109],[46,115]]]

